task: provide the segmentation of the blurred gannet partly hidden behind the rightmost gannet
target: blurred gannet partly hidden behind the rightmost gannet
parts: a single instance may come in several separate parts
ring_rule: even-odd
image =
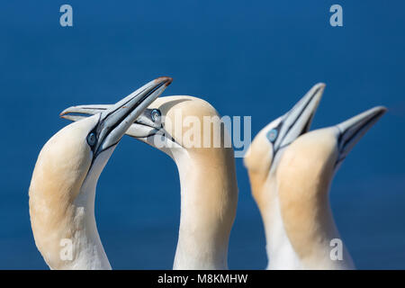
[[[279,207],[276,175],[284,150],[310,129],[325,85],[314,85],[289,112],[257,133],[244,157],[253,197],[266,233],[267,269],[293,269],[297,257],[284,229]]]

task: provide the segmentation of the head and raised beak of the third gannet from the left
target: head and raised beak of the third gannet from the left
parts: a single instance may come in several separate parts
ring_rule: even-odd
[[[247,167],[253,196],[263,206],[272,197],[268,185],[272,183],[281,157],[293,140],[310,130],[311,121],[322,97],[325,85],[314,85],[289,112],[270,122],[257,133],[244,164]]]

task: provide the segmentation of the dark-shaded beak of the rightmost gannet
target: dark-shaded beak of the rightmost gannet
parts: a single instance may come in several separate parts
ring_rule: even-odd
[[[337,166],[347,157],[347,154],[355,147],[358,140],[365,135],[365,132],[369,130],[386,111],[387,108],[383,106],[374,107],[336,126],[338,128],[339,153]]]

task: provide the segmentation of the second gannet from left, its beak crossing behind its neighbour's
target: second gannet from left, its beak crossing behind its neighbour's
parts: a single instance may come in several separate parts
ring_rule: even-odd
[[[76,121],[83,116],[68,113],[94,114],[108,107],[82,105],[62,113]],[[202,123],[204,116],[210,117],[214,126],[220,125],[219,114],[210,103],[192,96],[166,96],[150,104],[127,131],[164,151],[177,166],[181,217],[174,269],[228,269],[229,233],[238,202],[235,159],[233,148],[224,148],[224,141],[229,138],[225,129],[222,134],[220,130],[200,127],[193,134],[202,140],[210,133],[210,139],[220,139],[220,148],[190,147],[187,143],[187,131],[193,128],[188,120]]]

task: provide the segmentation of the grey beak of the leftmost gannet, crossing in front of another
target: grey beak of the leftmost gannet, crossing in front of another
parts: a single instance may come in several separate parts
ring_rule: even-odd
[[[99,112],[100,118],[93,131],[96,139],[94,156],[117,144],[133,121],[144,112],[150,103],[162,94],[166,86],[170,85],[171,82],[172,78],[170,77],[159,77],[143,85],[118,103],[110,105],[107,109]],[[66,118],[66,113],[67,110],[62,112],[60,116]],[[76,118],[76,120],[80,119]]]

